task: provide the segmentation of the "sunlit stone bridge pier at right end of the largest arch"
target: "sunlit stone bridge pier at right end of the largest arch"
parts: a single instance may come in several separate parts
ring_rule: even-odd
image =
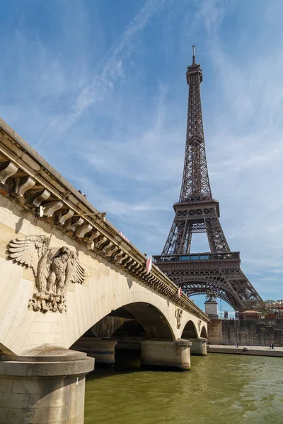
[[[141,341],[141,365],[190,370],[189,340]]]

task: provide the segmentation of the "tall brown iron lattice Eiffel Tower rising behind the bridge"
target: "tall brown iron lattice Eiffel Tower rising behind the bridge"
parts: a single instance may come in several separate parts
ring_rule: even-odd
[[[202,70],[195,61],[195,46],[186,77],[189,100],[180,199],[173,205],[175,218],[166,244],[154,260],[188,296],[213,292],[234,310],[243,311],[261,298],[241,271],[240,252],[229,248],[219,222],[219,202],[212,197],[200,99]],[[200,232],[207,233],[210,252],[192,254],[192,234]]]

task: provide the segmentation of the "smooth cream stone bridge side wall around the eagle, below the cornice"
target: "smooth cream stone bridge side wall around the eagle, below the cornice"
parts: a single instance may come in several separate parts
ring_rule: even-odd
[[[7,245],[11,240],[26,235],[51,236],[50,247],[69,246],[79,251],[79,260],[86,269],[82,285],[71,284],[67,291],[67,312],[34,312],[28,309],[33,297],[35,276],[30,268],[7,260]],[[44,344],[69,348],[85,331],[118,307],[133,302],[154,305],[166,318],[173,339],[180,338],[188,320],[194,322],[198,336],[200,318],[183,310],[177,329],[177,304],[156,293],[99,255],[89,252],[48,223],[35,218],[33,213],[0,195],[0,346],[3,351],[17,355]],[[200,330],[199,330],[200,328]]]

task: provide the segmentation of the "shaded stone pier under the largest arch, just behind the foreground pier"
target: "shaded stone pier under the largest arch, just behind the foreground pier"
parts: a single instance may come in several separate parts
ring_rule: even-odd
[[[96,363],[105,365],[115,364],[115,346],[117,341],[97,337],[81,337],[71,346],[74,351],[86,353],[95,358]]]

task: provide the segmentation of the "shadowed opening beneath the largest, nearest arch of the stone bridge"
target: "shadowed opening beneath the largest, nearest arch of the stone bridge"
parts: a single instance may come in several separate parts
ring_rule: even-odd
[[[141,360],[141,343],[173,343],[175,336],[164,314],[149,302],[133,302],[100,319],[71,346],[96,359],[114,365],[116,359],[132,351]],[[154,348],[156,346],[154,345]],[[121,355],[122,351],[122,355]],[[162,351],[162,349],[161,349]],[[117,356],[118,355],[118,356]]]

